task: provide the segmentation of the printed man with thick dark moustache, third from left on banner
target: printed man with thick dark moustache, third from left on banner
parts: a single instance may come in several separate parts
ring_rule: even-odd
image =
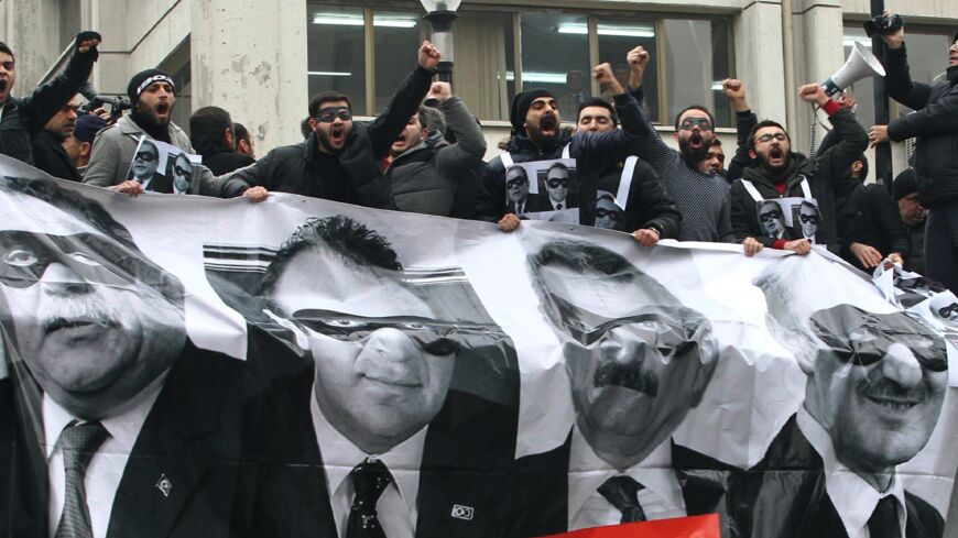
[[[509,536],[719,510],[721,488],[686,471],[727,468],[672,441],[718,362],[708,320],[596,244],[549,241],[529,270],[562,342],[576,416],[565,443],[516,461]]]

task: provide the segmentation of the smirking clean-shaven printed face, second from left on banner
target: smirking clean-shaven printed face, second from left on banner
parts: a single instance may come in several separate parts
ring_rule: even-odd
[[[438,413],[458,342],[401,272],[314,244],[287,262],[272,303],[306,329],[319,407],[360,448],[381,453]]]

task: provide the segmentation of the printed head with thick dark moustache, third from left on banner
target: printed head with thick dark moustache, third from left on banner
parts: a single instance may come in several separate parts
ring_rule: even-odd
[[[586,437],[628,439],[618,451],[646,454],[674,431],[711,375],[708,321],[600,246],[554,242],[530,263],[564,341]]]

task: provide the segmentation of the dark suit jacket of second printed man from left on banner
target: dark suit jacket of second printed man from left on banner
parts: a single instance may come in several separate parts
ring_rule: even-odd
[[[276,378],[269,391],[250,536],[337,537],[309,411],[314,372],[312,360],[304,361],[298,374]],[[515,409],[449,391],[426,433],[417,538],[499,536],[503,468],[514,453],[515,424]],[[471,519],[455,517],[456,505],[472,508]]]

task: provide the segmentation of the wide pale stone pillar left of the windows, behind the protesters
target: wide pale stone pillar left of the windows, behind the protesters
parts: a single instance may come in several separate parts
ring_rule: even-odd
[[[307,113],[306,2],[193,1],[194,109],[229,111],[257,154],[302,140]]]

